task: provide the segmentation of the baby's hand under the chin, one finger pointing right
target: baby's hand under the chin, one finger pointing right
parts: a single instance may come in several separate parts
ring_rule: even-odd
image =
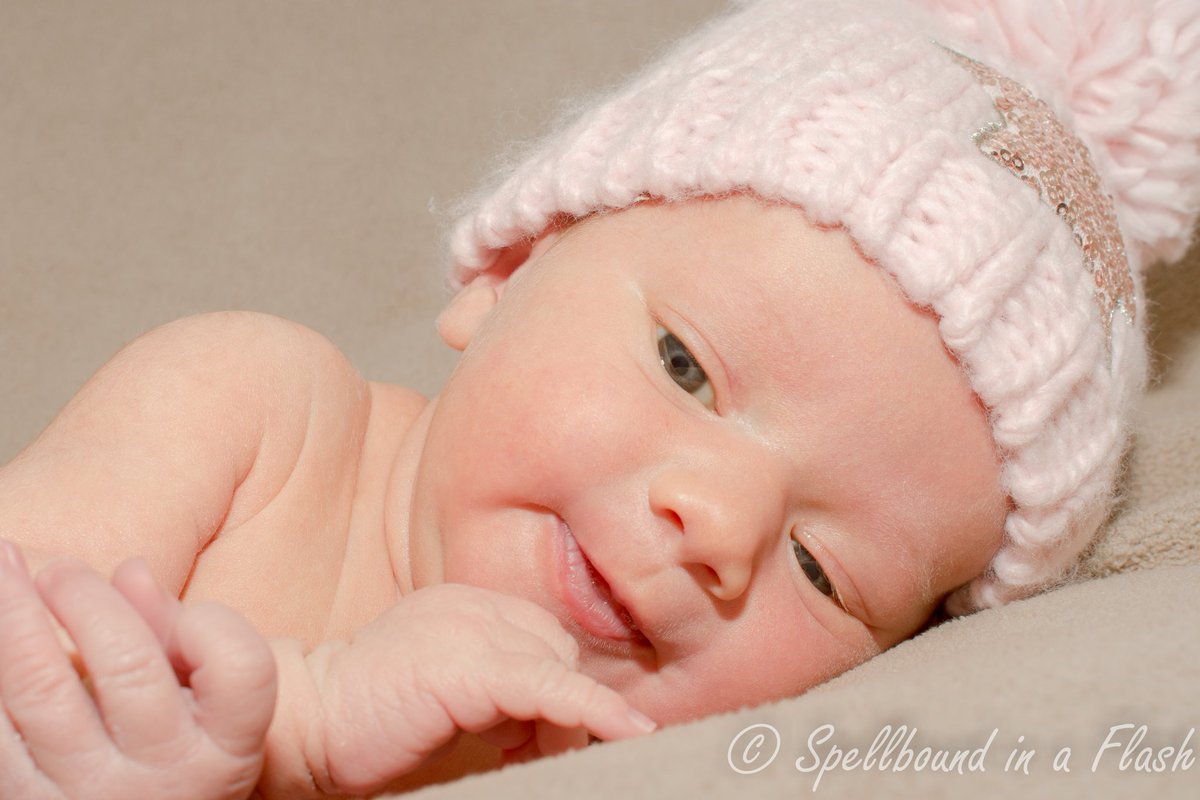
[[[310,656],[326,718],[318,786],[386,786],[460,730],[522,757],[623,739],[654,724],[576,670],[578,645],[546,609],[486,589],[420,589],[348,645]],[[310,740],[311,741],[311,740]]]

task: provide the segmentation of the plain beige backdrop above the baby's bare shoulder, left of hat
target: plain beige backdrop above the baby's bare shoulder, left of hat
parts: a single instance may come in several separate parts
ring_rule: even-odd
[[[200,311],[436,391],[454,203],[716,0],[0,0],[0,463]]]

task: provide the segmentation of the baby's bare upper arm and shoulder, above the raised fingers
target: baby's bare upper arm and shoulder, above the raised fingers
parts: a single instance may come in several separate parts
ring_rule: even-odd
[[[366,399],[350,373],[332,344],[265,314],[155,329],[0,469],[0,537],[35,571],[73,555],[108,575],[142,557],[178,596],[200,549],[278,493],[313,407],[359,402],[355,386]]]

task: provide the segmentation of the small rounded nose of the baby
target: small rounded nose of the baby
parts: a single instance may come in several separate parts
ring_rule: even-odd
[[[680,561],[719,600],[739,597],[762,553],[782,536],[782,492],[769,468],[667,467],[652,479],[649,503],[680,535]]]

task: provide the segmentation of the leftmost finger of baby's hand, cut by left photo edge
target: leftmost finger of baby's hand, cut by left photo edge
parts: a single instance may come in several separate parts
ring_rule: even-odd
[[[0,702],[43,770],[110,746],[20,551],[8,542],[0,542]]]

